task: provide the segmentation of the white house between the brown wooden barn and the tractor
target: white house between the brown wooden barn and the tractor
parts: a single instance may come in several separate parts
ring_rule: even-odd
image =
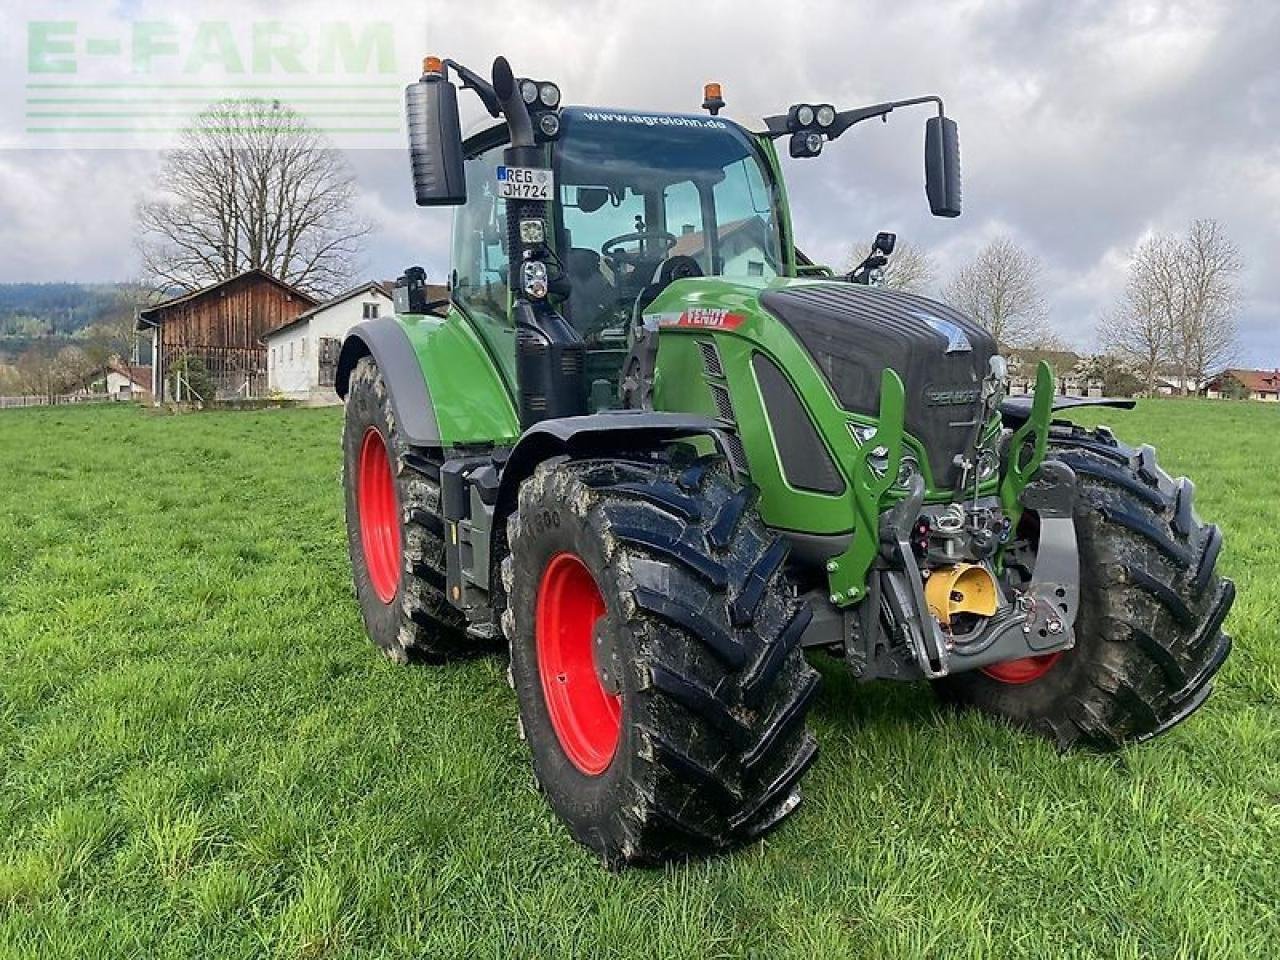
[[[364,320],[393,312],[387,288],[366,283],[269,330],[262,337],[268,392],[289,399],[337,403],[333,378],[347,332]]]

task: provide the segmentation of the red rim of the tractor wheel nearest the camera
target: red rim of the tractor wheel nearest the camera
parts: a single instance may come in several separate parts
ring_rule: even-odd
[[[622,698],[595,672],[593,634],[603,616],[591,571],[572,553],[552,557],[538,586],[538,673],[561,748],[589,777],[608,768],[622,733]]]

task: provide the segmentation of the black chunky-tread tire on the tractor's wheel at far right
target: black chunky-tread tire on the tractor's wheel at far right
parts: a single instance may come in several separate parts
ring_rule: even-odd
[[[1196,515],[1190,481],[1172,480],[1151,447],[1062,425],[1050,433],[1048,456],[1079,481],[1075,646],[1030,682],[973,671],[934,689],[1064,749],[1147,740],[1204,703],[1231,649],[1221,627],[1235,586],[1216,573],[1222,535]]]

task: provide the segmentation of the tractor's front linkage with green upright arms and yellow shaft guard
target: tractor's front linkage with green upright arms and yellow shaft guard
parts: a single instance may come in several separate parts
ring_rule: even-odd
[[[905,497],[888,497],[902,457],[904,389],[897,374],[883,371],[876,433],[859,448],[854,461],[854,500],[860,522],[849,548],[827,562],[831,603],[854,609],[861,604],[860,616],[835,621],[841,631],[852,627],[849,630],[852,641],[845,639],[844,644],[855,673],[899,677],[919,671],[936,680],[992,663],[1060,653],[1075,644],[1073,626],[1080,593],[1073,521],[1076,484],[1069,466],[1044,461],[1052,398],[1052,372],[1041,362],[1032,413],[1014,431],[1000,488],[1006,539],[1024,508],[1039,518],[1034,576],[1006,598],[977,567],[966,571],[968,577],[965,572],[922,567],[918,553],[923,550],[913,539],[924,512],[924,480],[916,474]],[[877,449],[887,452],[887,467],[882,471],[868,462]],[[963,536],[968,522],[964,513],[947,512],[946,520],[952,522],[952,532]],[[934,531],[945,529],[938,525]],[[991,556],[997,566],[1004,548],[1000,544]],[[938,577],[932,591],[927,588],[931,576]],[[988,582],[991,586],[992,611],[968,631],[950,628],[946,616],[947,602],[955,595],[952,589],[961,580],[970,589],[986,591]],[[808,645],[823,643],[819,631],[806,637]],[[906,662],[902,650],[909,653]]]

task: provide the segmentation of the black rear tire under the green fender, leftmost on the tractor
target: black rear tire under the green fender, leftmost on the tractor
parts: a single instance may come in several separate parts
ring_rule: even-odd
[[[394,595],[385,588],[379,595],[376,571],[370,570],[361,535],[358,465],[362,443],[371,430],[383,440],[394,488],[399,530]],[[347,552],[370,640],[397,663],[439,663],[472,653],[476,644],[465,634],[462,612],[444,595],[439,463],[428,452],[410,449],[404,443],[387,383],[372,357],[362,357],[351,372],[342,448]]]

